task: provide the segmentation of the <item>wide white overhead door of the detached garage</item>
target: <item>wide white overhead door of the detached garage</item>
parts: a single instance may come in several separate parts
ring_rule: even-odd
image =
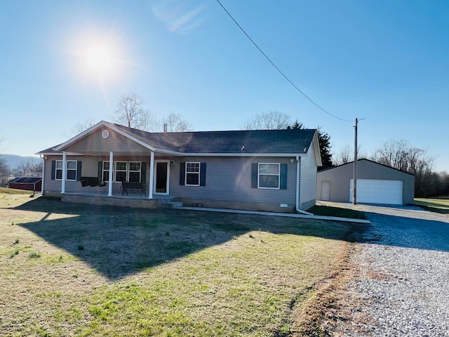
[[[349,202],[352,202],[352,187],[354,180],[349,183]],[[370,204],[402,204],[402,180],[357,179],[357,202]]]

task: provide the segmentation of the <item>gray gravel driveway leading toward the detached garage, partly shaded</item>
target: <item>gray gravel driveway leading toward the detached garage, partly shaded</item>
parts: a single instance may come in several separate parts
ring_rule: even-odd
[[[326,203],[366,212],[356,277],[345,291],[351,319],[333,336],[449,336],[449,216],[417,207]]]

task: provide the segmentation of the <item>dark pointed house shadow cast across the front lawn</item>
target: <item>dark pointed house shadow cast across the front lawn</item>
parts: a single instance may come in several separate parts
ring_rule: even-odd
[[[15,209],[44,212],[39,221],[20,226],[112,280],[251,231],[351,241],[351,234],[368,227],[276,216],[70,204],[47,198]],[[72,217],[53,219],[56,213]]]

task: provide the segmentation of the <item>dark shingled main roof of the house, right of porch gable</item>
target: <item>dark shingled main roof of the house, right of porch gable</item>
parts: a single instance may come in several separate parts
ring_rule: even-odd
[[[182,153],[305,154],[315,129],[149,133],[113,124],[152,147]]]

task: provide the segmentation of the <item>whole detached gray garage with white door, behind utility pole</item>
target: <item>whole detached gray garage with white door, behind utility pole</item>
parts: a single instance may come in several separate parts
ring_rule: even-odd
[[[357,161],[357,202],[366,204],[413,204],[415,177],[389,166]],[[317,174],[316,199],[352,202],[354,162]]]

